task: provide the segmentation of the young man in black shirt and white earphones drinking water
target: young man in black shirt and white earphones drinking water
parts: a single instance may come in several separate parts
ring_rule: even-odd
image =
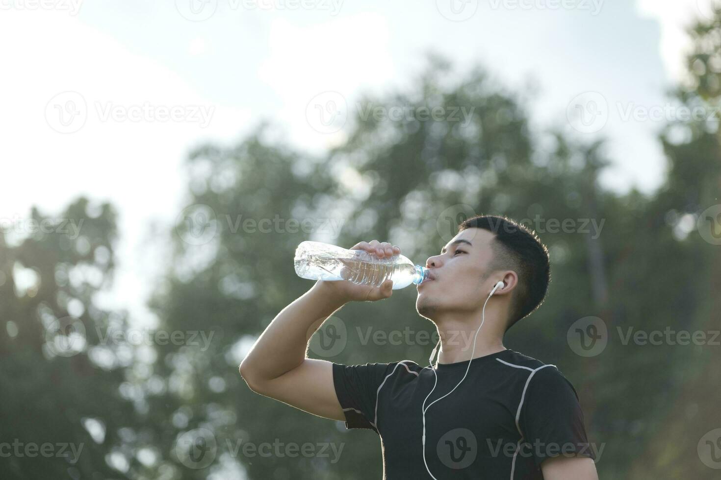
[[[353,249],[400,253],[376,240]],[[374,430],[384,479],[598,480],[573,386],[555,366],[503,346],[546,295],[538,237],[505,217],[474,217],[426,267],[416,309],[438,328],[435,368],[306,358],[309,336],[343,304],[392,294],[391,281],[318,281],[268,325],[240,373],[266,397]]]

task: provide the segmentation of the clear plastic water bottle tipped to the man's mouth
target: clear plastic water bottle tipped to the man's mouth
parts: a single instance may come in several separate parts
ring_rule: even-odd
[[[414,265],[404,255],[378,258],[364,250],[348,250],[328,243],[306,241],[298,245],[296,273],[310,280],[349,280],[354,284],[381,286],[386,279],[393,289],[420,284],[428,268]]]

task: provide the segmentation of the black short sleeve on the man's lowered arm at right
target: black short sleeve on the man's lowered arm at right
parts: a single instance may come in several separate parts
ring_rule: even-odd
[[[518,423],[526,452],[534,458],[536,466],[559,455],[596,460],[594,445],[588,443],[583,426],[578,394],[556,366],[549,365],[534,373]]]

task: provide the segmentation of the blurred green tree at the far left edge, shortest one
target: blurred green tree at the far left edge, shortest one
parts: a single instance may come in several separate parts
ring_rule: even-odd
[[[123,464],[133,423],[118,389],[132,353],[107,342],[126,317],[95,298],[112,280],[115,236],[110,205],[84,198],[0,230],[3,479],[127,478],[110,464]]]

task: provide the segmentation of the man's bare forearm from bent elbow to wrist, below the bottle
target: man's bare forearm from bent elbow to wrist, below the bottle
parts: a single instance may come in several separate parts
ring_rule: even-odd
[[[306,358],[308,340],[315,330],[345,301],[317,282],[270,322],[241,363],[240,372],[250,382],[276,379]]]

